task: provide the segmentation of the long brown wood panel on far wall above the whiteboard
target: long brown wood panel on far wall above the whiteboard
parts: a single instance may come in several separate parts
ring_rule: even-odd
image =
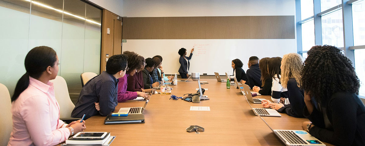
[[[123,39],[294,38],[294,16],[123,18]]]

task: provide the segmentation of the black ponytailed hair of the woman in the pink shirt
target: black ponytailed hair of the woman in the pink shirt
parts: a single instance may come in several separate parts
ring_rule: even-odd
[[[47,46],[39,46],[30,50],[24,59],[24,66],[27,70],[18,82],[14,89],[14,95],[11,97],[11,102],[18,99],[22,93],[29,86],[29,77],[39,78],[48,66],[55,65],[57,61],[56,52]]]

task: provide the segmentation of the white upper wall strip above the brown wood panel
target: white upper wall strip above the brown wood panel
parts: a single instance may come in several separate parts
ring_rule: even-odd
[[[295,15],[295,0],[123,0],[127,17],[280,15]]]

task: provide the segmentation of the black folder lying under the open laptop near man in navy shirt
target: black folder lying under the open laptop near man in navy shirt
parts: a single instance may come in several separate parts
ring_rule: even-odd
[[[104,124],[133,124],[145,123],[145,115],[143,114],[129,114],[128,116],[111,116],[108,115]]]

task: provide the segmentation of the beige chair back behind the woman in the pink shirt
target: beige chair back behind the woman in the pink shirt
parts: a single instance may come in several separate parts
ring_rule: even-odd
[[[11,115],[11,99],[8,88],[0,83],[0,107],[1,107],[1,118],[0,118],[0,145],[8,145],[10,133],[13,129],[13,121]]]

